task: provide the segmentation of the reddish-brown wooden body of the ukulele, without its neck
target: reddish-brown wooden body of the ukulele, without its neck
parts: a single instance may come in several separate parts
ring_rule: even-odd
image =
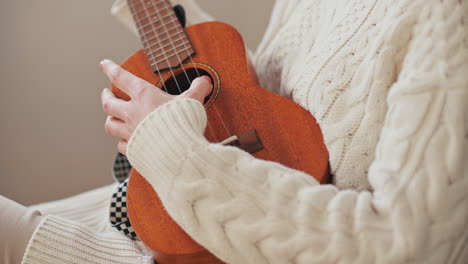
[[[315,119],[298,104],[258,86],[248,73],[239,33],[220,22],[193,25],[186,33],[196,54],[193,60],[185,60],[183,66],[173,70],[198,67],[214,82],[214,92],[205,104],[210,126],[206,138],[219,142],[255,130],[263,149],[252,155],[304,171],[321,183],[328,182],[328,152]],[[151,70],[143,50],[122,66],[158,87],[172,77],[166,70],[161,80]],[[113,91],[128,100],[117,88],[113,87]],[[151,185],[135,170],[128,188],[130,221],[139,238],[154,251],[158,263],[221,263],[172,220]]]

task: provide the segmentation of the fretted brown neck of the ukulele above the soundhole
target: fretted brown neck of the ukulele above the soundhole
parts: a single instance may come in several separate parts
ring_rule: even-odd
[[[153,72],[179,66],[195,53],[168,0],[127,0]]]

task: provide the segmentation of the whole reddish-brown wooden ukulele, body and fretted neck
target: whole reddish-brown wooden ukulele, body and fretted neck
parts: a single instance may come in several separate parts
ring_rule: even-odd
[[[209,76],[213,91],[204,106],[210,142],[304,171],[320,183],[329,181],[328,152],[316,120],[298,104],[256,83],[242,38],[233,27],[207,22],[184,28],[168,0],[127,2],[144,48],[122,64],[124,69],[174,95],[187,90],[193,79]],[[112,91],[130,100],[115,86]],[[128,183],[127,210],[135,233],[158,263],[223,263],[174,222],[135,169]]]

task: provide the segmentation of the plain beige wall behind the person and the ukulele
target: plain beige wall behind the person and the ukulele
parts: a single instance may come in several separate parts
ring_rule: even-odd
[[[138,40],[110,16],[113,0],[0,1],[0,194],[23,204],[110,183],[116,140],[105,135],[103,58]],[[199,0],[235,25],[250,49],[273,0]]]

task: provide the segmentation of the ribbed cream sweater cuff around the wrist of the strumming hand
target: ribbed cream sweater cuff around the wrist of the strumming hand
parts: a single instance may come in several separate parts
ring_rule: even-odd
[[[200,102],[190,98],[168,102],[137,126],[128,142],[127,157],[142,175],[171,175],[193,148],[209,144],[203,136],[206,124]]]

